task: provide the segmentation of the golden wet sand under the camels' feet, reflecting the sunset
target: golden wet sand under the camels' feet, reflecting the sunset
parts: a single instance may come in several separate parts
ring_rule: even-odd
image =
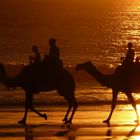
[[[27,125],[17,121],[23,116],[23,108],[0,108],[0,140],[129,140],[140,139],[140,126],[134,122],[135,113],[131,107],[118,107],[110,126],[102,123],[107,118],[110,106],[80,106],[73,125],[63,126],[61,120],[66,107],[40,107],[48,115],[48,120],[29,112]]]

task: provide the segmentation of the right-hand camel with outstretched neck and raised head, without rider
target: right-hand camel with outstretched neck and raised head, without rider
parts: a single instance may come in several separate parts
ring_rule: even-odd
[[[109,123],[112,117],[112,113],[116,107],[117,96],[119,92],[125,93],[129,102],[132,104],[136,116],[137,123],[139,121],[138,112],[136,108],[136,103],[133,99],[132,93],[140,92],[140,64],[134,64],[134,68],[130,70],[122,69],[122,66],[116,68],[115,72],[112,74],[101,73],[91,61],[78,64],[76,70],[84,70],[88,72],[92,77],[94,77],[102,86],[106,86],[112,89],[112,105],[111,112],[104,123]],[[128,71],[128,73],[127,73]],[[131,73],[131,74],[130,74]],[[130,74],[130,75],[129,75]]]

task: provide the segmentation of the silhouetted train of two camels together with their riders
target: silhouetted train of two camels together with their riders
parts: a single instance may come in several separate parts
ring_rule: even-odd
[[[37,46],[33,46],[35,57],[30,57],[31,64],[25,66],[19,74],[9,77],[4,65],[0,63],[0,82],[8,88],[21,87],[25,91],[25,112],[23,118],[18,121],[20,124],[26,124],[27,113],[31,111],[37,113],[40,117],[47,119],[47,115],[40,113],[34,108],[33,96],[39,92],[57,90],[58,94],[67,101],[68,110],[64,116],[65,124],[71,124],[78,103],[75,98],[75,81],[71,73],[63,67],[59,59],[59,49],[55,45],[55,39],[49,40],[50,55],[45,55],[45,61],[41,62]],[[128,43],[128,52],[122,65],[118,66],[114,73],[105,75],[101,73],[91,61],[78,64],[76,70],[84,70],[93,76],[102,86],[112,89],[111,112],[104,123],[109,123],[112,113],[116,107],[117,96],[119,92],[125,93],[129,102],[132,104],[137,122],[139,120],[136,103],[132,93],[140,92],[140,63],[133,62],[134,50],[132,43]],[[50,59],[51,58],[51,59]],[[54,59],[55,58],[55,59]],[[32,62],[33,60],[33,62]],[[36,61],[36,64],[34,63]],[[53,63],[52,63],[53,62]],[[70,117],[69,114],[71,113]]]

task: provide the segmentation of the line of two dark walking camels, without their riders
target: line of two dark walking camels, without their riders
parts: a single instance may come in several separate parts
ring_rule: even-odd
[[[116,71],[113,74],[105,75],[101,73],[92,64],[91,61],[81,63],[76,66],[76,71],[84,70],[91,76],[93,76],[102,86],[106,86],[112,89],[113,96],[111,112],[108,118],[103,121],[104,123],[110,122],[112,113],[116,107],[116,101],[119,92],[125,93],[125,95],[128,97],[129,102],[132,104],[136,112],[138,120],[138,112],[136,109],[136,103],[132,97],[132,93],[140,92],[140,64],[134,64],[133,69],[131,69],[133,70],[133,72],[131,71],[132,74],[129,74],[129,77],[129,71],[127,69],[121,70],[121,67],[122,66],[116,68]],[[44,76],[44,73],[46,73],[46,76]],[[41,79],[40,77],[43,77],[43,79]],[[40,71],[40,69],[37,69],[34,66],[26,66],[15,77],[9,77],[4,65],[1,63],[0,82],[10,88],[21,87],[25,91],[25,114],[23,119],[18,123],[26,124],[28,109],[34,111],[40,117],[47,119],[46,114],[42,114],[35,110],[33,106],[33,95],[39,92],[47,92],[51,90],[57,90],[58,94],[60,96],[63,96],[64,99],[68,102],[68,110],[66,112],[66,115],[64,116],[63,121],[65,122],[65,124],[72,123],[72,119],[78,107],[78,103],[74,95],[75,81],[70,72],[68,72],[65,68],[62,68],[61,71],[59,71],[59,73],[57,73],[57,75],[55,75],[54,77],[54,74],[53,76],[50,76],[49,73],[47,74],[47,69],[43,69],[43,71]],[[70,118],[68,118],[68,115],[72,108],[72,114]]]

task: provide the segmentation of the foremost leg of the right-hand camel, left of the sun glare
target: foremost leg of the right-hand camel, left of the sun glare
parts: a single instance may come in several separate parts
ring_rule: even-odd
[[[118,96],[118,92],[113,91],[111,112],[110,112],[108,118],[107,118],[106,120],[103,121],[103,123],[109,123],[109,122],[110,122],[110,119],[111,119],[111,117],[112,117],[113,111],[114,111],[114,109],[115,109],[115,107],[116,107],[117,96]]]

